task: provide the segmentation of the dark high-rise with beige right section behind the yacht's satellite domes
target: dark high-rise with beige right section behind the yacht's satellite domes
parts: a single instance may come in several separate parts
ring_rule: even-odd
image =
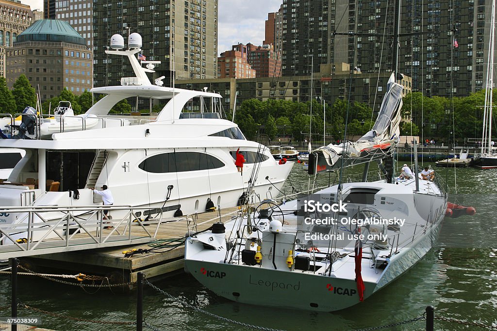
[[[93,54],[94,85],[119,85],[131,74],[131,66],[106,55],[113,34],[137,32],[142,36],[142,53],[148,61],[161,61],[155,75],[175,79],[217,77],[217,0],[94,0]],[[174,71],[175,74],[171,74]],[[155,77],[155,78],[157,78]]]

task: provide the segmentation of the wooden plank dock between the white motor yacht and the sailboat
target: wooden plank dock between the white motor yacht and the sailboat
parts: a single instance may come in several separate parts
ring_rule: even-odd
[[[220,219],[226,222],[236,215],[238,210],[238,207],[231,207],[223,208],[221,211],[216,210],[197,214],[195,222],[197,224],[197,231],[209,228]],[[191,225],[192,223],[190,223]],[[150,228],[155,226],[157,224],[151,225]],[[186,218],[163,223],[159,226],[156,239],[158,241],[181,240],[185,237],[187,231],[188,223]],[[134,233],[136,234],[136,232]],[[24,265],[36,272],[50,270],[51,273],[54,273],[54,269],[59,269],[64,272],[71,271],[72,273],[81,272],[86,275],[107,276],[112,283],[126,283],[136,281],[139,271],[143,272],[148,278],[182,271],[184,265],[184,243],[181,240],[171,244],[177,244],[177,247],[164,247],[157,249],[153,253],[134,254],[130,257],[126,257],[123,252],[131,249],[148,250],[152,248],[151,244],[35,255],[21,258],[19,261],[20,265]]]

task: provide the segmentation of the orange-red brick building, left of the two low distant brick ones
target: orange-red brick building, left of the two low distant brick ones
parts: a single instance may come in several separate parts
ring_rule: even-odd
[[[255,78],[255,70],[248,63],[250,49],[256,49],[252,44],[238,44],[231,51],[221,53],[218,58],[218,78]]]

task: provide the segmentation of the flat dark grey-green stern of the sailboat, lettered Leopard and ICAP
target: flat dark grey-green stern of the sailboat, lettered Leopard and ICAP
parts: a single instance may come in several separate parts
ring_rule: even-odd
[[[325,312],[359,303],[354,279],[195,260],[185,265],[202,285],[236,302]],[[364,285],[366,298],[376,284]]]

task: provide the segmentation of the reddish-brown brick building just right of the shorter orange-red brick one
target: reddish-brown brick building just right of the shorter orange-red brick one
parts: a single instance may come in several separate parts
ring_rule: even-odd
[[[256,77],[277,77],[281,75],[279,61],[272,44],[255,46],[247,44],[248,63],[255,70]]]

